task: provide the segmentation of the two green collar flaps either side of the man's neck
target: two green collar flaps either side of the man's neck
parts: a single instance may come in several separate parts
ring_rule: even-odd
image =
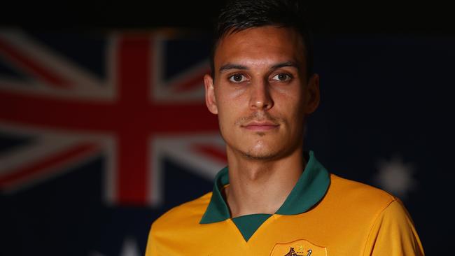
[[[200,224],[220,222],[231,218],[228,205],[220,191],[221,187],[228,183],[228,166],[226,166],[216,174],[214,191]],[[310,150],[307,166],[305,166],[302,176],[297,180],[297,184],[275,214],[295,215],[308,211],[318,201],[321,201],[329,185],[328,171],[318,162],[314,157],[314,152]]]

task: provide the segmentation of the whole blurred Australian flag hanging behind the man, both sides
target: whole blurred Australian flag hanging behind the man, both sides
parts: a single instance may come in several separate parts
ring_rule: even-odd
[[[400,197],[429,255],[454,228],[453,45],[315,38],[305,147]],[[226,161],[204,105],[209,47],[172,29],[1,30],[0,255],[143,255],[155,218],[209,192]]]

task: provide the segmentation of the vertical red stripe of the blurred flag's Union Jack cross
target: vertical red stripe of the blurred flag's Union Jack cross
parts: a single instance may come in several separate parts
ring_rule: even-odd
[[[148,36],[129,36],[119,42],[118,86],[120,104],[130,106],[119,109],[123,116],[132,117],[121,122],[118,136],[118,172],[116,199],[120,204],[144,205],[147,203],[148,185],[148,129],[144,119],[148,103],[148,84],[151,67],[151,40]],[[131,112],[131,106],[137,111]],[[151,117],[150,117],[151,118]]]

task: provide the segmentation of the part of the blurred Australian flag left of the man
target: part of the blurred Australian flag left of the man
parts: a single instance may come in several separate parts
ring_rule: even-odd
[[[0,31],[0,255],[143,255],[158,215],[211,189],[207,42]]]

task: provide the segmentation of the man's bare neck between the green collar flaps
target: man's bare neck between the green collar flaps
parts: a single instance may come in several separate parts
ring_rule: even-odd
[[[281,159],[248,159],[229,148],[230,185],[225,197],[232,218],[254,213],[275,213],[286,200],[306,164],[302,148]]]

